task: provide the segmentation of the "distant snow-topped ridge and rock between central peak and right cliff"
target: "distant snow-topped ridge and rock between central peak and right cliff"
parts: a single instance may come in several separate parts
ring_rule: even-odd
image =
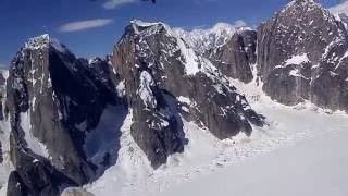
[[[209,59],[224,75],[245,83],[252,79],[256,63],[257,33],[243,21],[217,23],[212,28],[184,30],[174,28],[198,53]]]

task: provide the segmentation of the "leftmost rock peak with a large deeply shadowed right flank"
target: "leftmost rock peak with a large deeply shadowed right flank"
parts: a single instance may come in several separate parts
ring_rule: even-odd
[[[107,62],[76,59],[48,35],[17,52],[7,83],[13,182],[32,195],[58,195],[66,185],[89,182],[114,161],[117,126],[108,133],[115,144],[98,142],[105,134],[98,127],[111,125],[104,115],[122,119],[126,110],[110,73]],[[9,192],[12,187],[10,182]]]

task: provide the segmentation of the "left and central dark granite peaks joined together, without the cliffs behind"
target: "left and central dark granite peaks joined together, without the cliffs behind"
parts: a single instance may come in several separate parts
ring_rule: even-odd
[[[59,195],[115,164],[121,126],[157,169],[189,140],[182,118],[220,139],[263,119],[166,25],[135,21],[105,60],[77,59],[48,35],[29,39],[7,79],[8,195]]]

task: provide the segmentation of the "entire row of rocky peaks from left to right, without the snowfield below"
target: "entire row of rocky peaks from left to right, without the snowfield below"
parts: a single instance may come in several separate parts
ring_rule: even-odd
[[[219,139],[250,135],[263,117],[229,78],[258,77],[285,105],[348,111],[347,30],[321,5],[294,0],[257,32],[225,27],[188,36],[133,21],[111,56],[89,61],[48,35],[28,40],[9,77],[0,75],[0,166],[7,157],[13,164],[8,195],[55,196],[101,176],[117,162],[129,111],[130,137],[153,169],[190,142],[183,120]]]

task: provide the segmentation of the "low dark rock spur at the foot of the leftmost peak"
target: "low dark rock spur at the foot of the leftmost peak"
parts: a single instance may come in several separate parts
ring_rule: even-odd
[[[16,166],[8,181],[8,194],[21,192],[23,195],[55,196],[61,188],[77,184],[54,169],[48,160],[25,149],[18,135],[12,132],[10,137],[11,158]]]

